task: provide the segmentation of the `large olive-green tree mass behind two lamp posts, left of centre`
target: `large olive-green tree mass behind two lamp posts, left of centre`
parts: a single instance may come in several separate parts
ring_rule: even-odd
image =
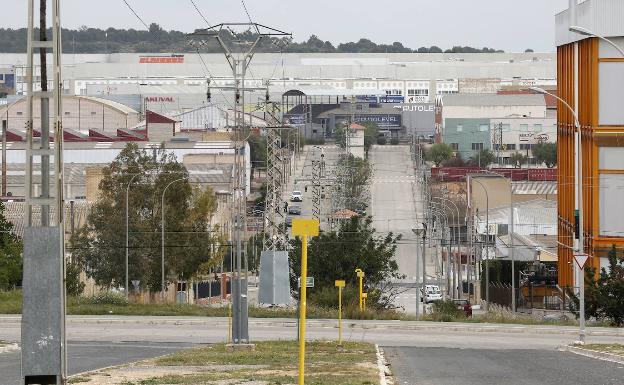
[[[98,285],[125,282],[125,194],[129,195],[129,276],[142,287],[160,288],[161,196],[165,186],[165,271],[167,279],[190,278],[202,264],[216,258],[218,243],[209,227],[216,207],[210,189],[191,188],[186,168],[164,147],[156,156],[128,144],[104,169],[100,197],[87,223],[70,239],[73,260]]]

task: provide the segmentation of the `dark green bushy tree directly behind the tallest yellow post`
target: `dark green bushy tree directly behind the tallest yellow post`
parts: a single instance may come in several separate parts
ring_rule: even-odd
[[[371,306],[389,307],[395,294],[384,285],[393,278],[402,278],[394,259],[400,235],[379,236],[372,227],[372,218],[354,217],[342,222],[336,231],[322,232],[308,244],[308,276],[314,277],[315,291],[334,288],[334,281],[344,279],[356,287],[356,268],[366,274],[366,290]],[[297,287],[301,275],[301,239],[291,241],[290,281]],[[373,302],[370,302],[374,299]]]

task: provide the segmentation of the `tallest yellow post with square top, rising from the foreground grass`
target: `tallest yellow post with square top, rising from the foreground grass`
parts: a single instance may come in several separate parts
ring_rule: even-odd
[[[292,234],[301,237],[301,295],[299,298],[299,385],[305,385],[305,322],[308,278],[308,237],[317,236],[318,219],[293,219]]]

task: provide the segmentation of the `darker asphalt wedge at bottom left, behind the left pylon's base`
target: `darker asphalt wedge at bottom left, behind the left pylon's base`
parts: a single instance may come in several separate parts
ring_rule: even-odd
[[[190,343],[92,342],[74,341],[67,345],[68,373],[83,373],[108,366],[140,361],[196,346]],[[0,383],[19,385],[20,352],[0,354]]]

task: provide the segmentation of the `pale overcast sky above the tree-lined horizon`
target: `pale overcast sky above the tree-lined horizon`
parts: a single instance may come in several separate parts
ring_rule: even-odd
[[[205,27],[191,0],[127,0],[147,24],[189,32]],[[26,1],[3,1],[3,27],[26,25]],[[38,3],[35,1],[35,3]],[[239,0],[195,0],[210,23],[247,21]],[[361,37],[506,51],[554,51],[554,15],[568,0],[246,0],[253,21],[332,43]],[[61,0],[64,27],[144,29],[123,0]],[[10,17],[7,17],[9,16]]]

